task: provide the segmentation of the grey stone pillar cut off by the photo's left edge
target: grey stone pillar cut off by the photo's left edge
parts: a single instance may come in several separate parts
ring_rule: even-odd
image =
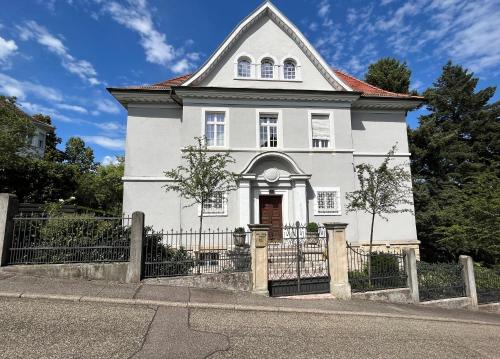
[[[17,196],[0,193],[0,267],[9,263],[10,245],[12,243],[12,218],[17,214],[19,202]]]

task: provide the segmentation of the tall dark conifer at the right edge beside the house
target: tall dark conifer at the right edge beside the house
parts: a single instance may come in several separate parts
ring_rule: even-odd
[[[494,87],[448,62],[409,130],[415,211],[427,260],[468,254],[500,263],[500,102]]]

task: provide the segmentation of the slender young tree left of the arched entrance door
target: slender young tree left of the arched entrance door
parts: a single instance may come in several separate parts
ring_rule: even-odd
[[[228,171],[227,165],[234,163],[233,157],[228,153],[213,153],[207,151],[206,138],[195,137],[195,145],[187,146],[182,159],[186,166],[178,166],[165,172],[173,182],[165,185],[167,191],[175,191],[181,197],[190,200],[186,207],[198,204],[200,206],[200,230],[198,249],[201,248],[203,230],[204,207],[219,193],[226,193],[236,189],[238,175]],[[224,197],[223,197],[223,200]],[[197,265],[200,273],[200,262]]]

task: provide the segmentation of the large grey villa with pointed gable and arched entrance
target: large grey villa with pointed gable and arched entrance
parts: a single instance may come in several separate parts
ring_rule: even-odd
[[[162,186],[182,148],[205,135],[230,151],[238,190],[206,206],[206,228],[347,222],[366,243],[370,219],[346,213],[354,166],[380,163],[397,143],[408,162],[406,113],[421,97],[381,90],[332,70],[269,2],[244,19],[196,72],[154,85],[109,88],[128,110],[123,208],[157,229],[189,229],[198,208]],[[411,213],[377,219],[375,242],[417,246]]]

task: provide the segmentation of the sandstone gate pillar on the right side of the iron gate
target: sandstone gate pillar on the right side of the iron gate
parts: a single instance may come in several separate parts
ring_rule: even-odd
[[[351,299],[347,265],[345,229],[347,223],[325,223],[328,239],[330,293],[338,299]]]

